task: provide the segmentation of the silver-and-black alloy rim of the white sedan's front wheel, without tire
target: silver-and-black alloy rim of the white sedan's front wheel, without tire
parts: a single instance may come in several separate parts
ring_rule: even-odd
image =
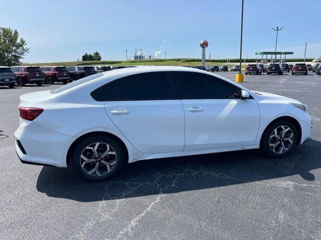
[[[270,134],[270,148],[274,153],[284,153],[291,147],[293,138],[294,134],[290,127],[285,125],[278,126]]]

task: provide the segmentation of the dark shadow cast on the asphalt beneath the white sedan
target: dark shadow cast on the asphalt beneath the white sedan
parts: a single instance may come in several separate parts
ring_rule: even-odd
[[[282,159],[243,150],[130,163],[103,182],[80,179],[67,168],[44,166],[37,190],[51,197],[98,201],[215,188],[299,174],[313,181],[321,167],[321,142],[310,140]]]

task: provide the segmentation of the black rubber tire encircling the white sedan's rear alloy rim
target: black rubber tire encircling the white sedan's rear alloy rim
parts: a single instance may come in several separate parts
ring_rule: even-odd
[[[115,165],[111,168],[111,170],[108,173],[106,173],[104,175],[100,175],[100,176],[87,173],[81,166],[81,157],[80,157],[81,154],[83,153],[83,151],[85,150],[85,148],[87,146],[89,146],[91,144],[95,144],[96,142],[108,144],[116,152]],[[97,153],[98,152],[99,152],[99,147],[97,148]],[[74,149],[74,151],[72,153],[70,167],[72,167],[73,171],[76,172],[76,174],[82,178],[85,178],[90,181],[101,181],[101,180],[106,180],[106,179],[110,178],[111,176],[115,175],[121,169],[123,164],[125,162],[127,162],[126,157],[127,156],[126,156],[126,154],[124,154],[124,150],[122,149],[121,145],[118,143],[118,141],[114,140],[113,138],[111,138],[109,136],[104,136],[104,135],[89,136],[77,144],[76,148]],[[98,158],[96,158],[96,160]],[[106,159],[106,161],[108,161],[108,160]],[[97,162],[97,163],[98,163],[99,167],[104,166],[104,164],[101,162],[100,163]],[[90,164],[89,167],[90,166],[93,167],[93,164],[97,164],[97,163],[96,162],[92,162],[92,163],[88,162],[86,164]],[[93,174],[96,174],[96,173],[93,172]]]

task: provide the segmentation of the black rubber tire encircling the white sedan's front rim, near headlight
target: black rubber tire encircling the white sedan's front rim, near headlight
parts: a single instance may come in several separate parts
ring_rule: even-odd
[[[279,127],[279,129],[281,129],[280,126],[287,126],[292,130],[293,140],[292,140],[292,143],[289,146],[288,150],[286,150],[285,152],[282,152],[282,153],[275,153],[270,147],[270,136],[271,136],[272,132],[274,131],[274,129],[276,129],[277,127]],[[295,125],[291,121],[289,121],[289,120],[279,120],[279,121],[276,121],[276,122],[270,124],[265,129],[264,134],[263,134],[262,139],[261,139],[260,148],[266,155],[268,155],[270,157],[281,158],[281,157],[287,156],[288,154],[291,153],[291,151],[293,150],[294,146],[296,145],[297,136],[298,136],[297,129],[296,129]],[[283,140],[283,142],[285,142],[285,141]],[[283,143],[283,144],[286,144],[286,143]],[[282,147],[282,145],[277,146],[277,147]]]

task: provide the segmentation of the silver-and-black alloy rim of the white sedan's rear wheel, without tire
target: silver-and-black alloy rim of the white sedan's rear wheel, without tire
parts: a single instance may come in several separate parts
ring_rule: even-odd
[[[108,174],[117,161],[116,151],[105,142],[95,142],[86,146],[80,155],[81,168],[89,175]]]

